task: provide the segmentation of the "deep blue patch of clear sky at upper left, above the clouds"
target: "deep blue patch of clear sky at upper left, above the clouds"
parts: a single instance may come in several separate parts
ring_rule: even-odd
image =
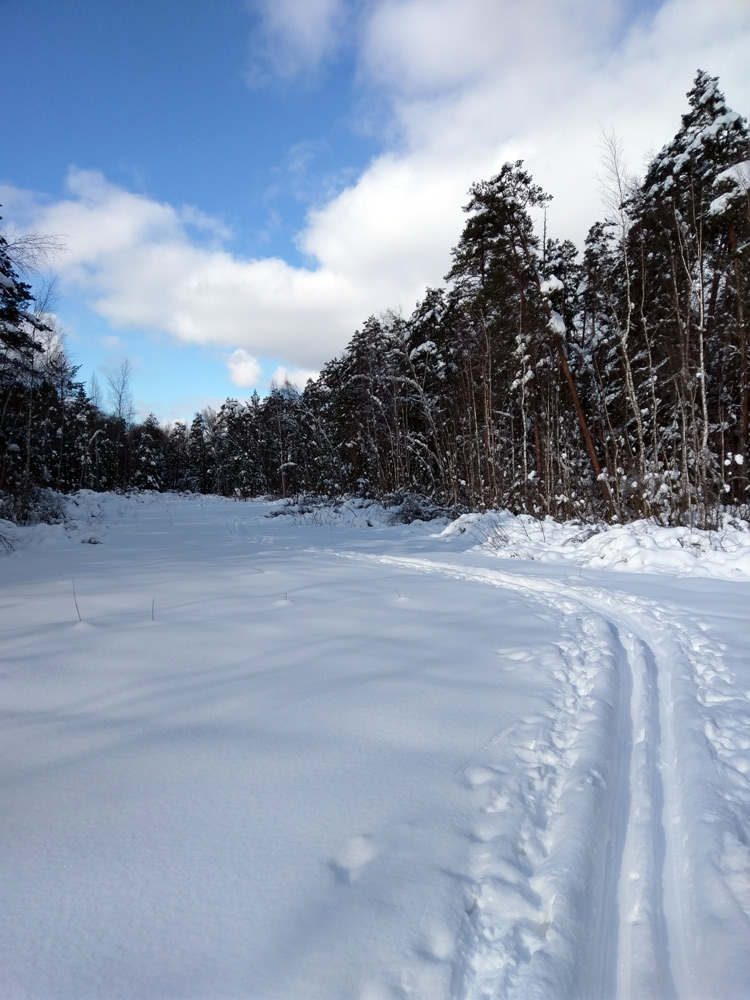
[[[69,166],[96,169],[157,201],[200,205],[232,227],[238,252],[293,254],[303,200],[377,152],[357,127],[345,58],[302,81],[261,65],[252,84],[260,18],[239,0],[0,9],[5,75],[18,82],[10,110],[28,128],[3,167],[25,187],[59,197]]]

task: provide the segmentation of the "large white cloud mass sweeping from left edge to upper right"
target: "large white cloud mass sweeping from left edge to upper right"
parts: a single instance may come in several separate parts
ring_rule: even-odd
[[[699,67],[719,75],[730,105],[750,111],[744,0],[667,0],[630,11],[621,0],[371,0],[349,8],[360,12],[360,87],[386,100],[397,141],[311,210],[298,237],[309,268],[239,259],[221,248],[217,220],[92,171],[72,171],[69,197],[55,204],[28,192],[0,191],[0,200],[30,213],[34,228],[66,235],[64,282],[83,289],[113,328],[234,351],[230,371],[240,384],[256,359],[319,369],[371,313],[410,312],[450,266],[470,183],[506,160],[526,160],[554,196],[549,231],[580,245],[603,212],[602,129],[615,128],[640,168],[644,153],[679,127]],[[269,0],[266,38],[309,68],[338,44],[343,10],[339,0]],[[309,45],[299,35],[308,22]]]

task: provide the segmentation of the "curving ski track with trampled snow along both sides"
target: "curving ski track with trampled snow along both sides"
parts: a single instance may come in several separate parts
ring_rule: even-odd
[[[547,658],[556,703],[457,772],[477,818],[452,996],[746,997],[750,692],[701,624],[583,585],[339,554],[508,589],[563,616],[557,652],[503,651]]]

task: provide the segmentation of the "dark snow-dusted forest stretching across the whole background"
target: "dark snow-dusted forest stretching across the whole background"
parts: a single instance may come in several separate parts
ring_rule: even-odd
[[[303,389],[189,426],[135,421],[127,364],[108,406],[87,391],[24,280],[44,237],[0,235],[0,516],[144,489],[750,517],[750,131],[708,73],[687,97],[642,179],[608,140],[609,203],[582,250],[547,238],[549,195],[506,163],[472,185],[445,284],[411,316],[368,318]]]

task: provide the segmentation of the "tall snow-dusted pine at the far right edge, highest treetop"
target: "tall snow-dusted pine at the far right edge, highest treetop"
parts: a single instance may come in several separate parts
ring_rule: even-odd
[[[673,475],[683,510],[708,521],[725,486],[723,456],[747,449],[747,258],[738,253],[742,213],[727,194],[750,159],[750,134],[715,77],[699,71],[687,96],[680,130],[634,201],[633,235],[646,321],[674,386]]]

